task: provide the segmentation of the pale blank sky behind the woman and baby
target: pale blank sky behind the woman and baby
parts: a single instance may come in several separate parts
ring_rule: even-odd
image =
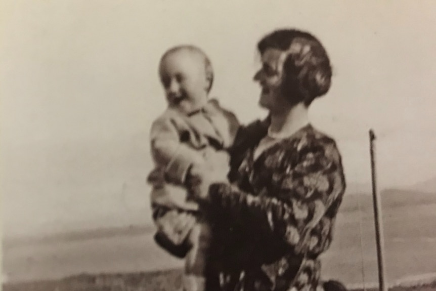
[[[433,178],[434,8],[393,0],[3,1],[6,231],[141,221],[148,132],[165,108],[162,53],[183,43],[201,47],[215,72],[212,96],[246,123],[266,114],[252,81],[256,43],[282,27],[312,32],[331,58],[331,90],[310,116],[336,139],[350,185],[370,183],[370,128],[380,187]]]

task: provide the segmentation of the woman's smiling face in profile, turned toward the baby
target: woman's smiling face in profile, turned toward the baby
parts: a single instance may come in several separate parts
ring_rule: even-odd
[[[261,56],[262,67],[254,75],[261,87],[259,105],[271,112],[289,108],[290,102],[282,94],[283,64],[287,54],[276,49],[267,49]]]

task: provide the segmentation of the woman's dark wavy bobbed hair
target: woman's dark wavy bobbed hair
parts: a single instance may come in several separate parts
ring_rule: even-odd
[[[282,91],[292,98],[292,102],[309,106],[330,89],[330,60],[320,41],[312,34],[296,29],[276,30],[261,39],[257,49],[260,54],[267,49],[287,53]]]

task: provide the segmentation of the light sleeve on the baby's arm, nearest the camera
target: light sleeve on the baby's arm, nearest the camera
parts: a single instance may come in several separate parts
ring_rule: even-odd
[[[153,159],[163,165],[167,178],[176,184],[185,183],[193,163],[204,162],[198,151],[181,142],[177,127],[170,118],[159,118],[153,122],[150,142]]]

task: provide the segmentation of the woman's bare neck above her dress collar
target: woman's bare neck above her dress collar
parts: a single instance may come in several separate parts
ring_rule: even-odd
[[[281,136],[290,136],[309,123],[309,111],[303,103],[290,110],[271,112],[270,116],[270,131]]]

